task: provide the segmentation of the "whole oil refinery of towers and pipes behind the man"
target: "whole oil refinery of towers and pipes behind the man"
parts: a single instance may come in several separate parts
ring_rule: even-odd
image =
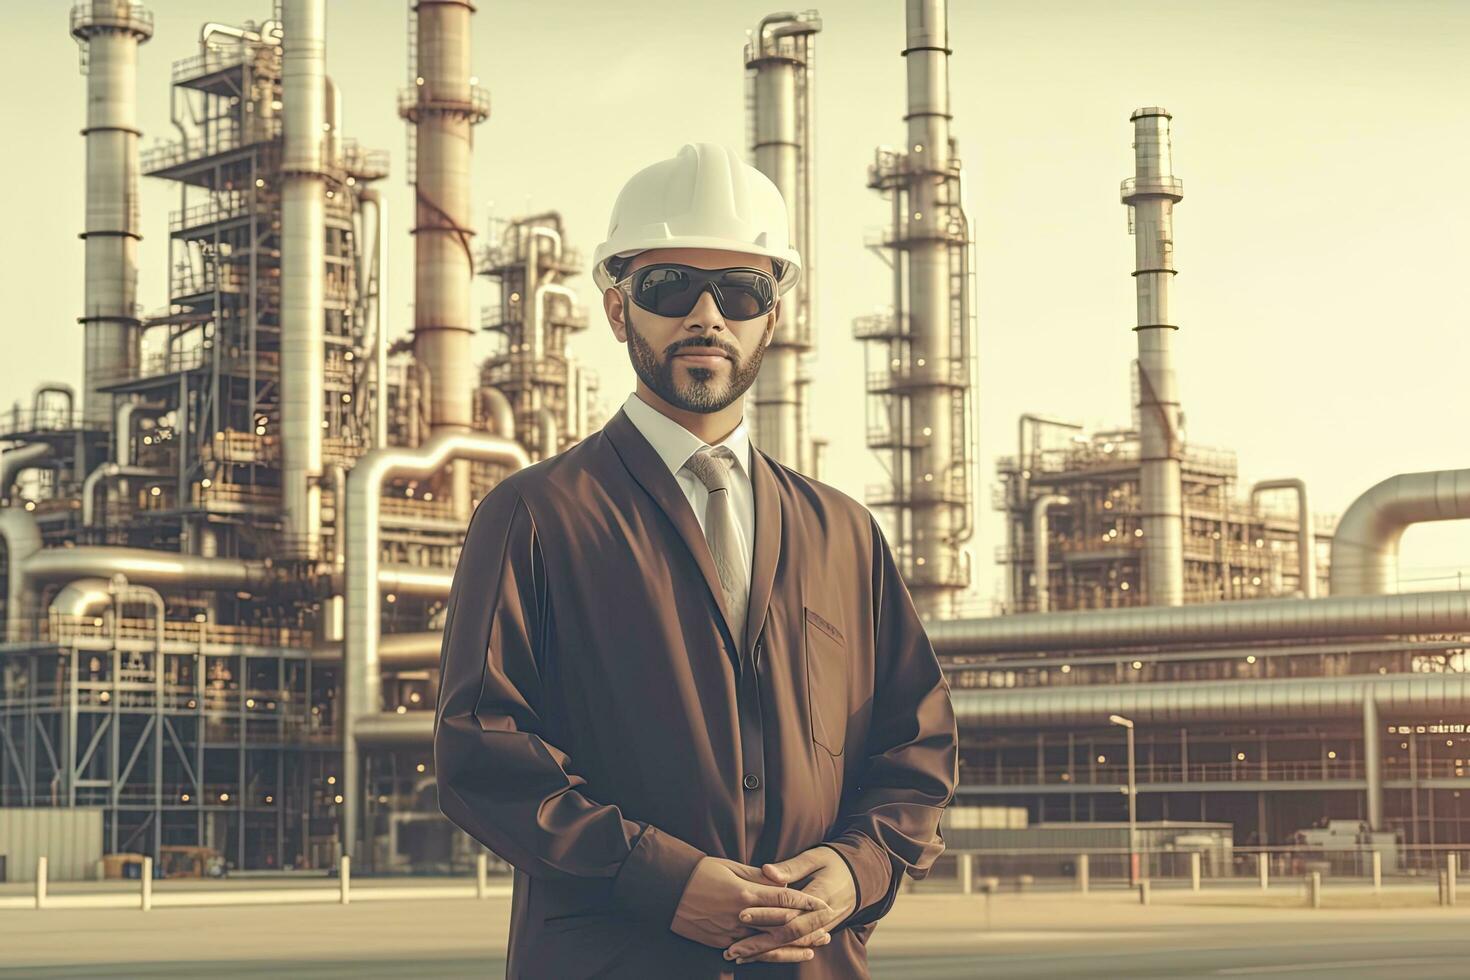
[[[407,172],[390,175],[340,129],[351,93],[326,73],[326,1],[240,6],[269,9],[203,24],[168,53],[184,54],[168,93],[138,91],[147,7],[71,9],[85,360],[79,386],[12,392],[0,414],[0,808],[100,811],[109,854],[462,868],[479,845],[440,814],[431,752],[445,601],[481,497],[606,422],[570,351],[587,259],[556,210],[475,228],[491,98],[470,38],[488,12],[407,4],[406,82],[382,107],[407,128]],[[1189,314],[1170,303],[1185,194],[1163,107],[1117,119],[1135,156],[1133,416],[1017,420],[989,501],[1005,539],[985,542],[1004,613],[964,605],[986,411],[967,191],[983,173],[956,137],[947,3],[906,0],[906,112],[876,123],[897,145],[867,166],[886,226],[841,259],[816,250],[822,31],[814,10],[772,13],[716,69],[745,85],[744,150],[804,259],[747,417],[766,453],[826,479],[811,379],[823,347],[861,344],[866,444],[889,479],[851,492],[948,671],[956,802],[1116,821],[1136,761],[1139,818],[1229,823],[1238,843],[1323,818],[1470,839],[1470,594],[1398,580],[1407,527],[1470,519],[1470,470],[1383,473],[1338,517],[1298,476],[1242,486],[1235,451],[1186,438]],[[144,150],[138,98],[165,97],[176,132]],[[178,194],[154,310],[137,298],[140,272],[159,273],[138,262],[144,176]],[[400,226],[390,176],[413,187]],[[410,244],[412,338],[390,342],[390,247]],[[819,273],[838,260],[883,276],[891,306],[823,323]],[[478,279],[497,301],[472,311]],[[1110,716],[1136,724],[1136,760]]]

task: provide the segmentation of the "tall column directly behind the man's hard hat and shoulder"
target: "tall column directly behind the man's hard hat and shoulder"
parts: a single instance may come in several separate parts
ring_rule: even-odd
[[[782,298],[781,320],[756,378],[753,430],[766,453],[808,475],[816,473],[804,367],[816,323],[813,59],[820,29],[814,12],[773,13],[745,44],[751,156],[785,198],[792,242],[801,253],[801,282]]]

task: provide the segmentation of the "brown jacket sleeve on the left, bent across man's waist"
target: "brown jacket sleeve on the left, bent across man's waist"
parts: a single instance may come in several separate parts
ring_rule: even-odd
[[[673,921],[704,852],[579,788],[542,726],[548,589],[512,482],[475,508],[454,569],[434,717],[440,810],[537,879],[609,879],[612,907]]]

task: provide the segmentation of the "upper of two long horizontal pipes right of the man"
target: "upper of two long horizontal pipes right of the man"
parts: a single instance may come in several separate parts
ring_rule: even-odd
[[[926,623],[941,654],[1470,632],[1470,591],[1239,599]]]

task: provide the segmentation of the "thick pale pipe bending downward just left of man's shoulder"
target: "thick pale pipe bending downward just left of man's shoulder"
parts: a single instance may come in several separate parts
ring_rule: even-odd
[[[382,708],[379,508],[390,479],[428,478],[453,460],[497,463],[512,470],[531,466],[516,442],[476,432],[441,432],[417,448],[388,447],[363,455],[347,475],[347,638],[343,664],[343,773],[345,801],[341,821],[343,854],[356,855],[362,795],[357,718]],[[444,570],[440,570],[442,574]]]

